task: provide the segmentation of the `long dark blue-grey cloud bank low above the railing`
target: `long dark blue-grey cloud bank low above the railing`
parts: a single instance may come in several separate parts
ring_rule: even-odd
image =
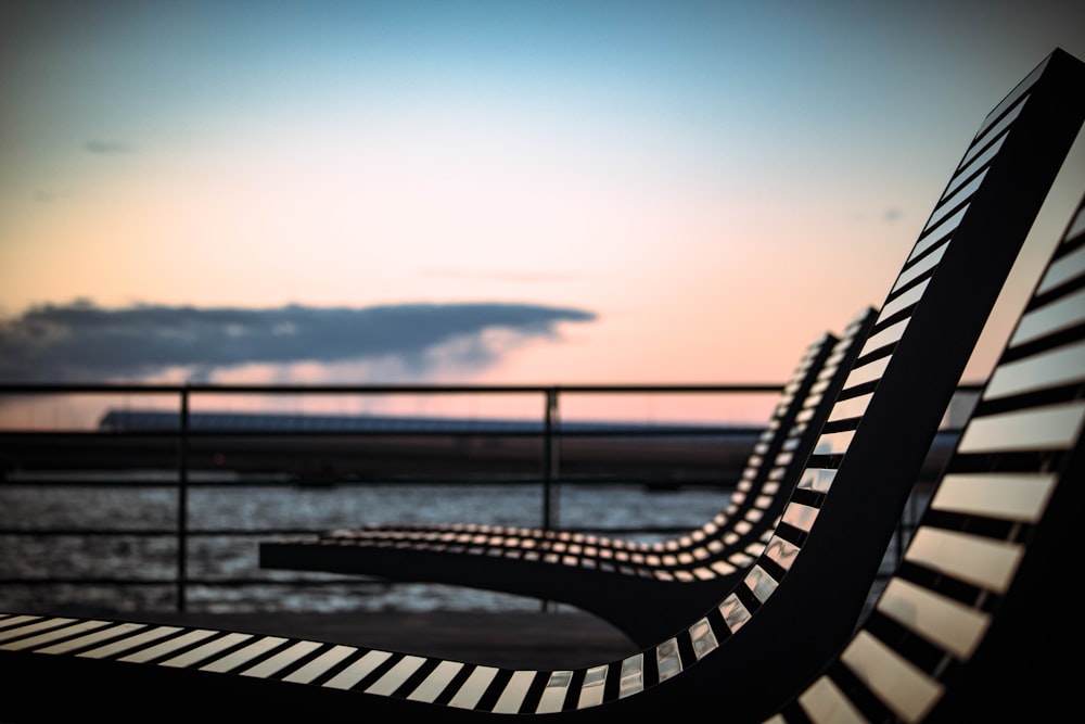
[[[0,379],[97,382],[184,368],[206,378],[248,365],[394,360],[416,376],[481,370],[511,346],[553,339],[589,312],[531,304],[401,304],[277,308],[138,305],[88,301],[34,307],[0,321]]]

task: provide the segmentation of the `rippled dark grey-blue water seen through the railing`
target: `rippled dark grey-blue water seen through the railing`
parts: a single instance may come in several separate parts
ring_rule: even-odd
[[[678,528],[691,530],[727,505],[728,493],[704,488],[651,492],[640,485],[563,485],[556,497],[563,528]],[[452,586],[359,582],[357,577],[261,570],[257,546],[275,539],[259,531],[355,528],[383,522],[480,522],[537,526],[542,494],[533,485],[251,485],[194,486],[189,530],[240,532],[195,535],[188,542],[192,611],[354,611],[437,608],[538,610],[539,601]],[[0,483],[0,579],[93,577],[173,580],[177,493],[136,485],[50,486]],[[18,531],[110,529],[108,536],[33,536]],[[10,531],[16,531],[11,533]],[[245,533],[250,532],[250,533]],[[652,539],[650,535],[621,533]],[[659,535],[654,536],[661,537]],[[201,581],[260,580],[258,584],[203,585]],[[320,585],[297,586],[297,580]],[[282,583],[279,583],[282,582]],[[0,584],[0,610],[173,610],[173,584],[138,586]]]

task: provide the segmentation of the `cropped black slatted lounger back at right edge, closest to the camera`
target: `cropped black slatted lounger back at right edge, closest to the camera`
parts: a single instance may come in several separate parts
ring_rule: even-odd
[[[1083,430],[1085,200],[873,611],[771,722],[1072,716]]]

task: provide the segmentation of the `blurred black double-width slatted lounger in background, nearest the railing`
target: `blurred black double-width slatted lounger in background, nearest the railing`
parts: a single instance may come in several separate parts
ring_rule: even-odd
[[[826,333],[809,345],[729,507],[680,538],[647,545],[538,529],[361,529],[263,544],[260,564],[561,601],[647,646],[718,600],[762,552],[875,318],[865,309],[842,338]]]

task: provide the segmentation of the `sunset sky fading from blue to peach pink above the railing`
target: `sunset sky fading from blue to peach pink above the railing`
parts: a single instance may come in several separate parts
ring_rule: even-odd
[[[0,380],[782,382],[1055,47],[1081,3],[9,1]]]

